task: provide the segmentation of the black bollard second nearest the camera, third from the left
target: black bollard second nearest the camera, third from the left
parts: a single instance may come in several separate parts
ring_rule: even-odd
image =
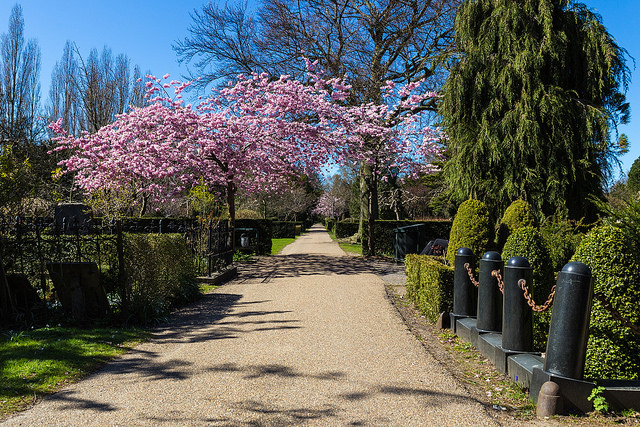
[[[502,308],[502,348],[509,351],[533,350],[533,312],[527,304],[518,281],[524,279],[529,289],[533,268],[526,258],[512,257],[504,267],[504,300]]]

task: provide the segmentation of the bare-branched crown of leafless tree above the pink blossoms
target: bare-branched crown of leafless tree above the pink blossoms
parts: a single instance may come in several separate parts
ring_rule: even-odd
[[[346,78],[361,101],[379,100],[387,80],[441,76],[460,0],[266,0],[209,2],[192,13],[190,36],[174,44],[199,84],[239,73],[304,74],[304,53]],[[193,76],[195,77],[195,76]]]

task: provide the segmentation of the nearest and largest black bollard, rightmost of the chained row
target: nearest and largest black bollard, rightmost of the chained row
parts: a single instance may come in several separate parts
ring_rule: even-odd
[[[558,273],[544,370],[581,380],[584,374],[593,298],[591,270],[570,262]]]

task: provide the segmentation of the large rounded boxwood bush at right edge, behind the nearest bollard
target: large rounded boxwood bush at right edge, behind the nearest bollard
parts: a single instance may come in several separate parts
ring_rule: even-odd
[[[632,245],[611,225],[588,232],[573,261],[585,263],[594,278],[594,291],[613,304],[623,317],[640,324],[640,274]],[[594,298],[589,324],[585,376],[606,379],[640,379],[640,336],[613,319]]]

